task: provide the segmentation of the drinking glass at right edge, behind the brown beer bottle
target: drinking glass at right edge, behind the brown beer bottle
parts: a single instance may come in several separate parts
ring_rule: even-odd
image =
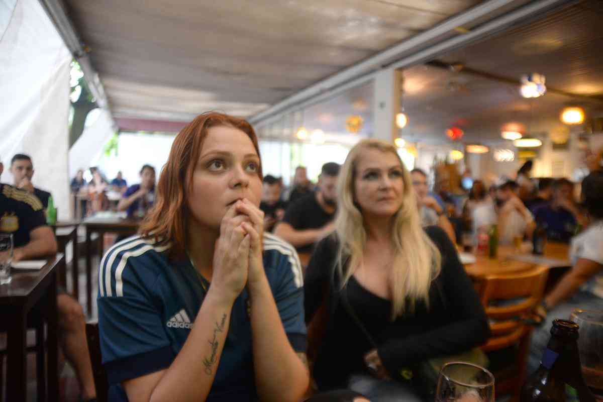
[[[580,326],[578,351],[584,382],[603,401],[603,311],[575,309],[569,319]]]

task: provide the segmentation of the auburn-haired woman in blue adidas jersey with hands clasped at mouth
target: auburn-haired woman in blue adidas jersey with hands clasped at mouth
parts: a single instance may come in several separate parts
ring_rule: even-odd
[[[248,122],[204,113],[176,136],[139,236],[99,268],[110,400],[300,400],[301,267],[263,232],[261,190]]]

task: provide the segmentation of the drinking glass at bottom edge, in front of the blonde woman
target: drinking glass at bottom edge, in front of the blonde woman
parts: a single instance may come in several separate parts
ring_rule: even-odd
[[[440,371],[435,401],[494,402],[494,375],[472,363],[447,363]]]

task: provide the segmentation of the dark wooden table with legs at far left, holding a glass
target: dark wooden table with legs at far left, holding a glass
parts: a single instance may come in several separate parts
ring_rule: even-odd
[[[43,312],[48,324],[47,400],[58,400],[58,312],[57,271],[65,269],[65,255],[57,254],[42,269],[13,269],[11,283],[0,285],[0,319],[7,323],[7,400],[27,400],[27,316],[34,306]],[[40,361],[40,360],[39,360]],[[43,363],[43,355],[42,355]],[[45,385],[38,386],[43,400]]]

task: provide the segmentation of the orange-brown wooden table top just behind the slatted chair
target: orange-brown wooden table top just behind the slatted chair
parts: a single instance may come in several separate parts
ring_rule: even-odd
[[[472,277],[485,277],[492,274],[526,271],[538,265],[548,268],[569,266],[568,253],[569,245],[561,243],[548,243],[543,256],[521,253],[512,246],[500,246],[496,259],[476,255],[475,263],[466,264],[465,271]]]

